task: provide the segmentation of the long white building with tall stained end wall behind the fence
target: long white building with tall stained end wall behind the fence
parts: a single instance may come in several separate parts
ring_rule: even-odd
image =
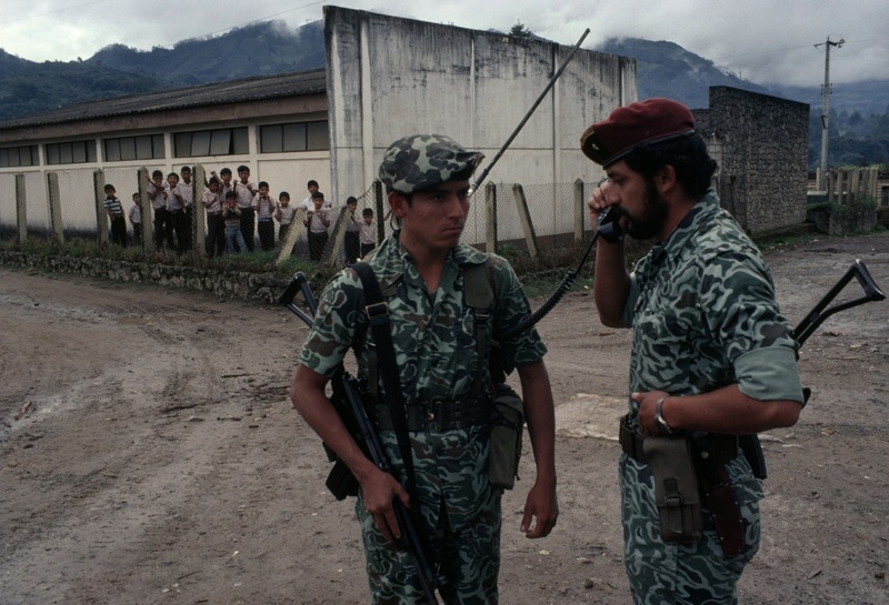
[[[0,122],[0,230],[16,225],[17,175],[26,185],[29,229],[51,224],[46,177],[54,172],[66,231],[94,232],[97,170],[124,202],[137,191],[142,167],[167,173],[186,164],[217,171],[246,164],[252,180],[268,181],[276,195],[287,190],[298,203],[314,179],[340,205],[372,185],[382,152],[404,134],[446,133],[490,161],[571,50],[338,7],[324,8],[324,21],[323,70]],[[593,181],[596,167],[579,151],[580,133],[635,100],[633,59],[578,51],[488,180]],[[555,199],[536,203],[552,216],[538,233],[561,229],[557,216],[570,210]]]

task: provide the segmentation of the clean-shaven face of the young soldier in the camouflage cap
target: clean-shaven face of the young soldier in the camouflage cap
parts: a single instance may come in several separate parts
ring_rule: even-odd
[[[393,203],[394,198],[394,203]],[[448,181],[411,195],[389,198],[392,213],[401,219],[404,235],[427,242],[433,249],[451,249],[460,242],[469,214],[469,181]]]

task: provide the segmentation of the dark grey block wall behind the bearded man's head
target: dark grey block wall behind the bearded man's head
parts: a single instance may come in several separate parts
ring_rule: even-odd
[[[809,105],[729,87],[710,88],[695,110],[698,132],[719,161],[722,206],[751,234],[806,220]]]

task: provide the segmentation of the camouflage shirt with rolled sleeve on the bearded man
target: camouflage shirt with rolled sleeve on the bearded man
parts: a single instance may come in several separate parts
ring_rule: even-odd
[[[623,323],[633,329],[631,392],[693,395],[738,383],[757,400],[802,402],[766,261],[712,191],[636,265]]]

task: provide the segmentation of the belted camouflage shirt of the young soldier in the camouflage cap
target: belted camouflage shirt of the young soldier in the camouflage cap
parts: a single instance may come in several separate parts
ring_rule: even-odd
[[[488,254],[468,245],[451,250],[439,289],[430,293],[413,260],[396,236],[388,238],[369,259],[389,306],[392,341],[404,401],[410,405],[433,399],[459,399],[471,386],[480,363],[476,350],[475,311],[463,301],[462,266],[481,264]],[[496,282],[496,309],[488,334],[507,333],[530,313],[521,284],[509,263],[497,255],[491,269]],[[363,291],[354,270],[346,269],[324,288],[314,323],[299,362],[327,376],[352,346],[361,349],[367,333]],[[532,330],[500,342],[506,361],[521,366],[540,361],[546,346]],[[359,356],[366,375],[367,355]],[[382,393],[382,385],[378,386]],[[452,527],[473,518],[490,501],[487,426],[439,432],[434,426],[412,432],[417,488],[423,513],[434,526],[439,503],[444,502]],[[381,431],[396,476],[404,481],[394,433]]]

